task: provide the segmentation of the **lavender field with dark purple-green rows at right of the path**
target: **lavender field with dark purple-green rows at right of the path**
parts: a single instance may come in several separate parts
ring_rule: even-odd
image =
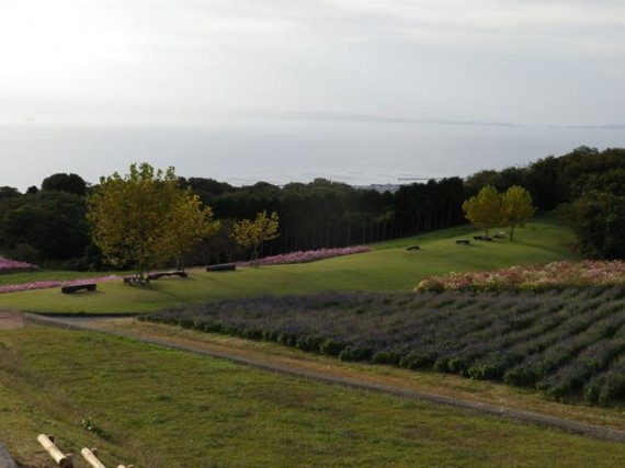
[[[625,397],[625,288],[329,293],[237,299],[145,320],[410,369],[535,387],[556,400]]]

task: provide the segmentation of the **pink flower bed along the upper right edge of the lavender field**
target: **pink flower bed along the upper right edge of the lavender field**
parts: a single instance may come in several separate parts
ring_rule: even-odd
[[[428,276],[417,290],[541,290],[582,286],[624,286],[625,262],[554,262],[547,265],[512,266],[493,272],[451,273]]]

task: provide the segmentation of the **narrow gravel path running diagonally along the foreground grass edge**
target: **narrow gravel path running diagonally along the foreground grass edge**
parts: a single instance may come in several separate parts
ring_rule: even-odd
[[[497,407],[493,404],[480,403],[475,401],[466,401],[441,395],[424,393],[397,386],[382,385],[364,379],[346,378],[337,375],[331,375],[329,373],[311,370],[296,365],[285,365],[282,363],[275,363],[271,361],[262,361],[254,358],[253,353],[247,353],[247,355],[246,353],[231,353],[223,350],[207,349],[201,343],[196,344],[179,343],[179,342],[172,342],[171,340],[167,340],[166,338],[157,338],[154,335],[148,336],[148,335],[141,335],[139,333],[111,330],[105,327],[94,324],[93,321],[87,321],[84,319],[52,318],[52,317],[37,316],[32,313],[26,313],[25,319],[27,323],[36,323],[47,327],[63,328],[67,330],[89,330],[89,331],[104,332],[120,336],[132,338],[150,344],[173,347],[180,351],[225,358],[235,363],[246,364],[265,370],[310,378],[325,384],[340,385],[355,389],[377,391],[404,398],[424,400],[436,404],[446,404],[457,408],[465,408],[481,413],[512,418],[522,422],[539,424],[548,427],[556,427],[567,432],[587,435],[600,440],[625,443],[625,431],[616,429],[596,426],[578,421],[549,416],[532,411],[523,411],[523,410],[505,408],[505,407]]]

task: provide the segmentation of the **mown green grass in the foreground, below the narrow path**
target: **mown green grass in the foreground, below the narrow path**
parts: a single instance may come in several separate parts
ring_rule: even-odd
[[[623,444],[329,387],[99,333],[0,332],[0,440],[105,465],[613,467]],[[80,425],[91,418],[109,441]]]

